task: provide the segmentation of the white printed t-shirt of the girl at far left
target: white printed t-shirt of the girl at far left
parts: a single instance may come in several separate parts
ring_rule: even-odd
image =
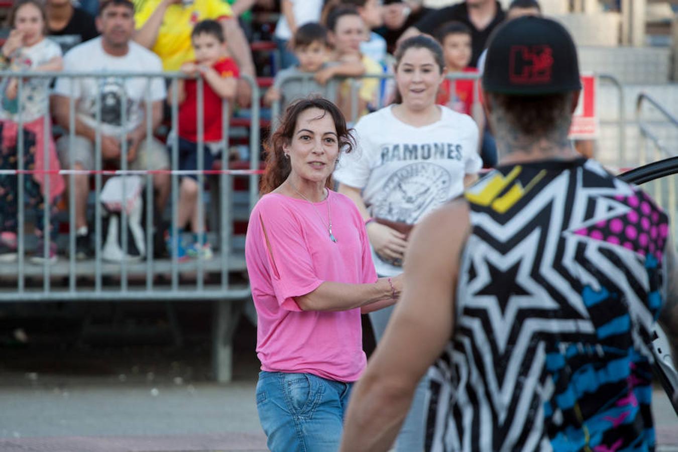
[[[10,63],[10,70],[31,70],[42,66],[53,58],[61,56],[61,47],[48,38],[31,47],[21,47]],[[21,87],[21,99],[10,101],[5,96],[5,88],[8,79],[2,83],[2,108],[0,117],[19,121],[19,105],[21,105],[21,117],[24,123],[35,121],[49,113],[49,83],[52,79],[30,78],[24,81]]]

